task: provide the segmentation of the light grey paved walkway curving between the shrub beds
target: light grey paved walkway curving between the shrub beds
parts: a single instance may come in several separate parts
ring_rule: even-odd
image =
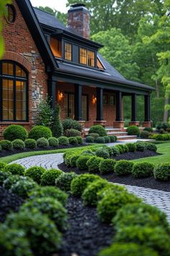
[[[28,158],[19,159],[13,163],[20,163],[25,168],[30,168],[31,166],[42,166],[46,169],[58,168],[58,164],[63,163],[63,153],[35,155]],[[143,200],[145,200],[148,204],[155,205],[164,211],[170,223],[170,192],[129,185],[126,187],[129,192],[143,198]]]

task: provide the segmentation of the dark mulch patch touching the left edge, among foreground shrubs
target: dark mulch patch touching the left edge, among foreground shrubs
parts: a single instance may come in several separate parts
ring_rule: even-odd
[[[9,192],[9,190],[0,187],[0,222],[4,222],[6,215],[10,211],[17,212],[19,206],[22,205],[24,200],[21,197]]]

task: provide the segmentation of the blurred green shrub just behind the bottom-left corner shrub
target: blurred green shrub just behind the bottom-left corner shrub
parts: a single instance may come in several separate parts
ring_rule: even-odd
[[[61,233],[55,223],[36,209],[29,214],[27,209],[10,214],[6,218],[6,225],[19,231],[19,234],[24,230],[33,255],[52,255],[61,246]]]

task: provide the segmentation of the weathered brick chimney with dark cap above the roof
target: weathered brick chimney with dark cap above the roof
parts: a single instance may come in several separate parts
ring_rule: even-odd
[[[68,10],[68,28],[74,28],[79,35],[89,39],[90,14],[84,4],[73,4]]]

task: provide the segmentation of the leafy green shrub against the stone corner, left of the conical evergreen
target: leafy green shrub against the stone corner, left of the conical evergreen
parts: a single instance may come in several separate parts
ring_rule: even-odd
[[[47,97],[45,99],[42,99],[38,106],[37,125],[51,128],[52,124],[53,124],[53,109],[51,108],[51,99]],[[41,136],[41,137],[45,137],[45,136]],[[36,140],[36,138],[34,137],[30,137],[30,138]]]

